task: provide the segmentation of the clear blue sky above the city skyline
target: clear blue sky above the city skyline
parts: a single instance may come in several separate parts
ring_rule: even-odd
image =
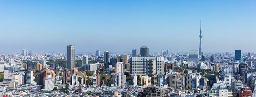
[[[0,53],[255,52],[255,0],[0,0]]]

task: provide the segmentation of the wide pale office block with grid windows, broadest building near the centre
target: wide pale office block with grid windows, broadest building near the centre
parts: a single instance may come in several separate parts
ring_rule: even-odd
[[[130,59],[130,75],[134,74],[149,77],[154,73],[164,74],[164,58],[163,57],[131,57]],[[150,74],[150,75],[149,75]]]

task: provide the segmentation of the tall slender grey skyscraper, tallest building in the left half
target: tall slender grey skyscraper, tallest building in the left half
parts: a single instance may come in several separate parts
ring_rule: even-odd
[[[71,70],[75,67],[75,46],[67,46],[67,69]]]

